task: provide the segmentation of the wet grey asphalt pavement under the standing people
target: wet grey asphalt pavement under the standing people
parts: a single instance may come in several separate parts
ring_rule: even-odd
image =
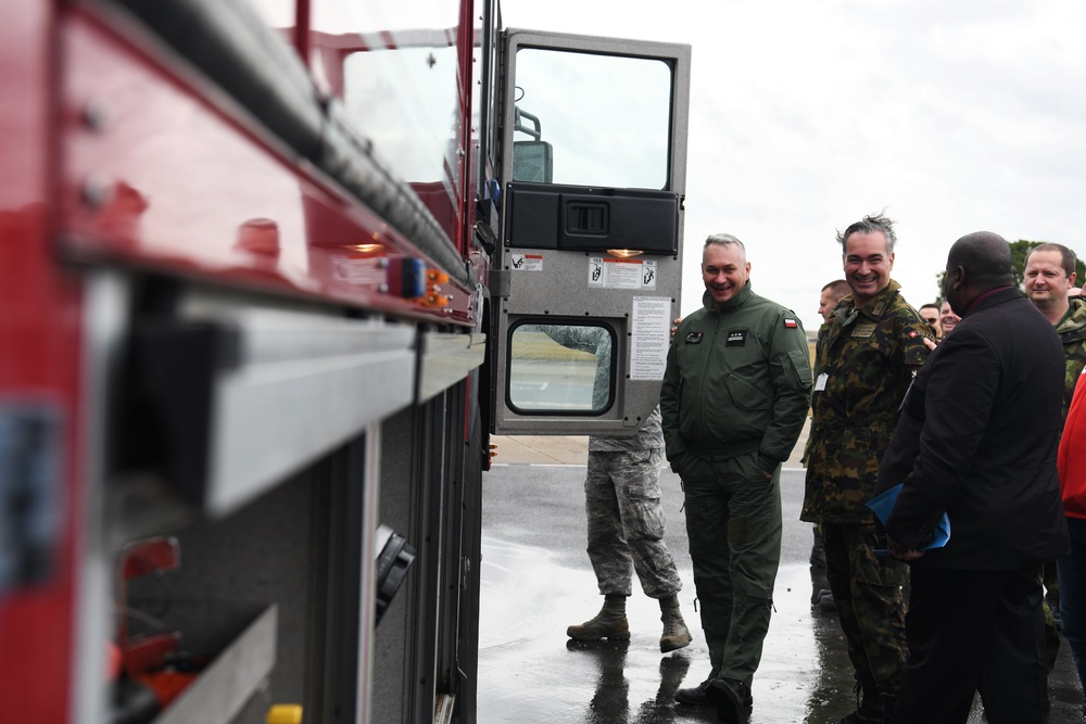
[[[627,604],[632,637],[579,644],[566,626],[592,618],[598,595],[584,552],[583,466],[495,465],[483,477],[483,560],[478,721],[569,724],[716,722],[716,710],[674,702],[681,686],[709,672],[694,610],[682,494],[677,475],[660,478],[667,544],[694,636],[661,655],[660,611],[634,579]],[[799,521],[804,471],[782,473],[784,538],[772,624],[752,693],[752,724],[823,724],[856,708],[851,666],[836,613],[810,606],[811,526]],[[969,612],[962,611],[963,622]],[[1082,694],[1068,647],[1049,676],[1051,724],[1082,722]],[[1078,703],[1076,703],[1078,702]],[[980,723],[975,704],[969,720]],[[921,723],[918,723],[921,724]]]

